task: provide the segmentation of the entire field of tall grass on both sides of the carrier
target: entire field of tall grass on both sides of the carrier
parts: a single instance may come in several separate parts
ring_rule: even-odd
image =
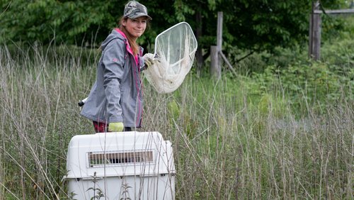
[[[89,94],[98,56],[1,46],[0,199],[67,199],[67,145],[93,133],[77,102]],[[189,74],[173,94],[144,84],[139,131],[173,143],[176,199],[352,198],[353,77],[333,91],[290,86],[283,75]]]

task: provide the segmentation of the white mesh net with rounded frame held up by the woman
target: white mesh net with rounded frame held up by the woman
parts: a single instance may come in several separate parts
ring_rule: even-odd
[[[157,35],[155,53],[144,56],[155,60],[144,75],[161,94],[180,87],[193,65],[197,40],[188,23],[181,22]]]

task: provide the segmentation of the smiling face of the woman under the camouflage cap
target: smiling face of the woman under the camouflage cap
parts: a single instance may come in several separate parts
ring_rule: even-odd
[[[144,33],[145,28],[147,28],[147,17],[127,18],[122,21],[122,26],[125,26],[128,33],[136,40]]]

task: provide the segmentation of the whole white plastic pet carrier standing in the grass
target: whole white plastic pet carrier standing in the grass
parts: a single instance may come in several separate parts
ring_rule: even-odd
[[[69,143],[70,199],[174,199],[169,140],[158,132],[76,135]]]

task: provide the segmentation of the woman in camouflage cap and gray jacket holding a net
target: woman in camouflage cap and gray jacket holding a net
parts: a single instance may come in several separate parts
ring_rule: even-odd
[[[136,41],[152,18],[137,1],[125,5],[119,28],[101,45],[96,82],[81,115],[93,121],[96,133],[130,131],[142,126],[142,82],[140,72],[152,65],[142,57]],[[144,65],[145,64],[145,65]]]

